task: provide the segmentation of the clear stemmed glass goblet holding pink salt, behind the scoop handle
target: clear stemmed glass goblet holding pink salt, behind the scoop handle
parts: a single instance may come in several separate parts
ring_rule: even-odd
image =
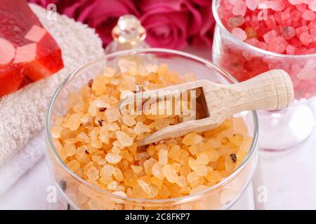
[[[284,69],[294,84],[296,100],[292,106],[280,111],[258,111],[261,128],[259,148],[284,150],[300,144],[310,136],[316,125],[310,106],[310,101],[316,99],[316,54],[282,55],[240,41],[220,20],[220,1],[214,0],[212,6],[216,20],[213,63],[239,81],[270,69]]]

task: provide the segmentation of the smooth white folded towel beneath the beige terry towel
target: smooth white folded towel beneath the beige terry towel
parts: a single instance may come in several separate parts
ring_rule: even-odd
[[[10,188],[15,181],[32,168],[45,152],[44,130],[31,139],[25,148],[0,167],[0,195]]]

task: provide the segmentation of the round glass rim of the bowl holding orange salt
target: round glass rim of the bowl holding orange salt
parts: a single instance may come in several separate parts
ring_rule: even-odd
[[[253,117],[253,122],[254,122],[253,140],[252,140],[251,146],[249,148],[249,151],[246,155],[246,158],[244,158],[244,161],[239,165],[239,167],[237,167],[237,169],[235,169],[234,172],[232,172],[232,174],[230,174],[230,176],[227,176],[225,179],[223,179],[219,183],[216,183],[216,185],[211,186],[209,188],[206,188],[204,190],[201,190],[201,191],[194,193],[192,195],[186,195],[186,196],[182,196],[182,197],[173,197],[173,198],[169,198],[169,199],[159,199],[159,200],[137,199],[137,198],[133,198],[133,197],[124,197],[124,196],[120,196],[120,195],[114,195],[107,190],[102,190],[96,186],[93,186],[91,183],[84,181],[84,179],[81,179],[79,176],[77,176],[77,174],[74,174],[74,172],[72,172],[72,170],[70,170],[67,167],[67,165],[65,165],[65,163],[59,157],[59,155],[55,149],[55,146],[53,145],[53,138],[52,138],[51,132],[50,132],[50,130],[51,130],[51,123],[50,123],[51,111],[53,109],[53,105],[55,103],[55,100],[57,99],[58,94],[60,93],[62,88],[65,87],[65,85],[72,79],[72,77],[74,77],[82,69],[86,69],[88,66],[96,64],[96,63],[101,62],[103,60],[114,59],[116,57],[121,57],[121,56],[126,56],[126,55],[136,55],[136,54],[141,54],[141,53],[159,53],[159,52],[160,53],[167,53],[167,54],[169,53],[172,55],[192,59],[195,62],[199,62],[199,63],[204,64],[203,66],[211,67],[211,69],[218,71],[218,73],[220,73],[221,76],[225,76],[225,78],[228,78],[230,81],[232,81],[232,83],[238,83],[238,81],[234,77],[230,76],[229,73],[227,73],[223,69],[220,69],[218,66],[216,66],[215,64],[213,64],[209,60],[203,59],[201,57],[192,55],[192,54],[187,53],[187,52],[181,52],[179,50],[169,50],[169,49],[164,49],[164,48],[143,48],[143,49],[139,48],[139,49],[121,50],[118,52],[113,52],[109,55],[104,55],[104,56],[98,57],[97,59],[94,59],[90,62],[87,62],[83,66],[80,66],[79,69],[77,69],[73,73],[71,73],[70,76],[68,76],[67,78],[65,78],[65,80],[62,81],[62,83],[60,84],[58,89],[53,94],[53,97],[51,98],[51,102],[48,105],[48,111],[46,112],[46,119],[45,119],[45,135],[46,135],[46,141],[48,144],[48,146],[46,146],[46,156],[48,156],[49,150],[53,151],[53,155],[55,156],[55,160],[57,160],[57,162],[59,162],[59,165],[61,165],[62,168],[65,169],[65,171],[68,174],[70,174],[70,176],[72,176],[72,178],[79,181],[79,183],[81,183],[82,185],[84,185],[88,188],[92,188],[92,190],[96,190],[101,195],[106,195],[108,197],[114,197],[114,198],[117,198],[119,200],[124,200],[124,201],[132,201],[132,202],[136,202],[136,203],[146,202],[146,203],[152,203],[152,204],[159,204],[159,203],[166,203],[166,202],[179,202],[182,200],[191,200],[191,199],[194,199],[195,197],[199,197],[200,195],[204,195],[205,193],[211,192],[212,190],[222,186],[223,184],[227,183],[232,178],[234,178],[248,164],[249,159],[251,158],[251,156],[254,154],[254,151],[256,150],[257,141],[258,141],[258,115],[257,115],[256,111],[251,111],[252,117]],[[49,149],[48,149],[48,147],[49,147]]]

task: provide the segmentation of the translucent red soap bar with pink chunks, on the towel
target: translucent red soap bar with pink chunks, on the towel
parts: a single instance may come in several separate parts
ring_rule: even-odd
[[[25,0],[0,1],[0,97],[64,66],[62,52]]]

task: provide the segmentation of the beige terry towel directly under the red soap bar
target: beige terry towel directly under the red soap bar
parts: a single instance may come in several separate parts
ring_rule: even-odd
[[[48,20],[44,8],[30,6],[60,45],[65,68],[0,99],[0,167],[44,127],[48,103],[62,80],[82,64],[104,54],[94,29],[65,15]]]

